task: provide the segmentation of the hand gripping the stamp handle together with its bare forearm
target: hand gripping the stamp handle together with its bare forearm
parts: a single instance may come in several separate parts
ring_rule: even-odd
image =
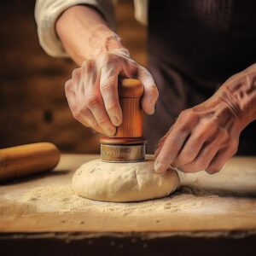
[[[73,6],[57,20],[56,32],[67,54],[79,65],[65,85],[75,119],[112,136],[122,122],[118,77],[139,79],[144,85],[143,110],[154,113],[158,98],[154,79],[131,59],[100,13],[89,6]]]

